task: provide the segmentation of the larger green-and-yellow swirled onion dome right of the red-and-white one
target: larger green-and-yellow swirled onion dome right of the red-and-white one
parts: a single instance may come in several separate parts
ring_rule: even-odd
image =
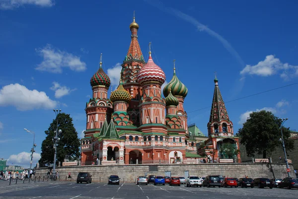
[[[164,97],[169,95],[170,90],[174,96],[186,97],[188,93],[186,86],[176,76],[175,68],[172,80],[163,88]]]

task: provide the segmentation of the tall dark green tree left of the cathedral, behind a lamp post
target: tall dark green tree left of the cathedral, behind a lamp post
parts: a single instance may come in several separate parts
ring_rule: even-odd
[[[50,166],[54,163],[54,142],[52,139],[55,136],[57,123],[56,118],[50,124],[50,127],[46,133],[46,138],[41,144],[41,158],[38,161],[40,166]],[[64,162],[66,156],[70,160],[76,160],[80,157],[79,147],[80,141],[77,137],[77,132],[74,128],[73,118],[69,114],[59,113],[58,115],[58,130],[62,130],[62,133],[58,133],[60,140],[57,146],[57,161]]]

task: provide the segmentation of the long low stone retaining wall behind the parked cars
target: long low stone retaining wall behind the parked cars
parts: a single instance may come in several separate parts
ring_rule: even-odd
[[[291,176],[295,177],[293,165],[290,164]],[[171,164],[171,165],[95,165],[95,166],[64,166],[56,168],[61,180],[65,180],[71,172],[73,180],[76,180],[78,172],[89,172],[92,181],[107,182],[110,175],[118,175],[121,181],[135,182],[138,176],[161,175],[170,171],[171,176],[197,175],[225,175],[241,178],[247,175],[249,178],[285,178],[288,177],[286,164],[284,163],[219,163],[219,164]],[[48,168],[38,168],[36,175],[46,176]],[[185,173],[186,172],[186,173]]]

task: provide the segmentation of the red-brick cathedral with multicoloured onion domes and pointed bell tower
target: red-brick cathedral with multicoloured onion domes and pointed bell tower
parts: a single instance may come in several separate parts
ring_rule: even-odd
[[[201,155],[214,160],[220,157],[219,147],[225,142],[239,148],[216,78],[209,137],[204,139],[204,154],[197,150],[196,140],[190,139],[183,107],[188,89],[178,79],[174,63],[173,77],[161,90],[165,74],[154,63],[150,50],[145,62],[138,29],[134,17],[117,89],[108,96],[111,81],[102,69],[101,58],[99,69],[91,77],[92,98],[85,108],[81,165],[94,164],[97,158],[103,165],[197,163],[205,158]]]

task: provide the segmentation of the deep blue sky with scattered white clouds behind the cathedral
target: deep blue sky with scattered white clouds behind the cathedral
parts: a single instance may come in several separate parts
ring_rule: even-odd
[[[37,162],[53,108],[85,129],[89,84],[103,68],[113,89],[130,44],[133,11],[141,50],[170,81],[173,60],[188,87],[188,122],[207,133],[217,71],[225,102],[298,82],[298,2],[0,0],[0,158],[28,165],[36,133]],[[249,112],[266,109],[297,129],[297,85],[226,103],[235,133]],[[109,91],[110,92],[110,91]],[[7,150],[7,151],[6,151]]]

